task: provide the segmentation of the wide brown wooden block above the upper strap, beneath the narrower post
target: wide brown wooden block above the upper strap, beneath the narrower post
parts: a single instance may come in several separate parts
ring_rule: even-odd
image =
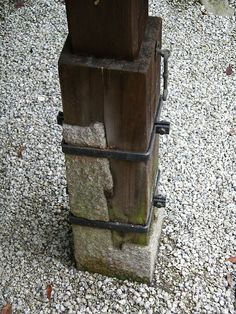
[[[105,124],[108,147],[147,150],[159,97],[161,19],[150,17],[139,57],[117,61],[77,56],[66,42],[59,60],[65,122]]]

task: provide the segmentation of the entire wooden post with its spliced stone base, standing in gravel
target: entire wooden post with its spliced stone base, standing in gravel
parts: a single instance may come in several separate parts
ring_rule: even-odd
[[[148,0],[66,5],[59,75],[77,266],[150,281],[163,213],[153,214],[161,19],[147,18]]]

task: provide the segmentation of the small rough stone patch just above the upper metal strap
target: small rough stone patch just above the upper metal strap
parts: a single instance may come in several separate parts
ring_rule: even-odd
[[[96,122],[88,127],[63,124],[63,139],[67,144],[81,147],[106,148],[103,123]]]

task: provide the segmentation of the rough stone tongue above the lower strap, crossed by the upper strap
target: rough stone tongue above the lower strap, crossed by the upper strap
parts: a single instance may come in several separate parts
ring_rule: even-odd
[[[64,123],[63,139],[80,147],[106,147],[104,125],[99,122],[88,127]],[[76,155],[66,155],[65,159],[71,212],[82,218],[108,221],[106,196],[113,189],[109,160]]]

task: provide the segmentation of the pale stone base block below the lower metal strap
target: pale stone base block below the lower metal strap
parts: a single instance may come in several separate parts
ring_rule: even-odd
[[[164,210],[154,208],[146,246],[125,243],[116,248],[110,230],[73,225],[77,268],[119,279],[150,283],[161,235]]]

